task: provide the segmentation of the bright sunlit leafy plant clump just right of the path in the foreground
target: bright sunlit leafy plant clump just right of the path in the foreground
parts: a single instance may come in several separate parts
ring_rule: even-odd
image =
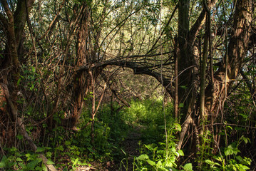
[[[141,155],[135,157],[135,170],[177,170],[177,158],[183,156],[183,150],[176,150],[175,133],[180,132],[178,123],[173,123],[165,135],[165,142],[158,144],[143,145],[140,149]],[[193,170],[192,164],[183,166],[183,170]]]

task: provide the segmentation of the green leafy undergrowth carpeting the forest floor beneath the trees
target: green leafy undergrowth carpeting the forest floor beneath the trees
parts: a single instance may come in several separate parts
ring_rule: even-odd
[[[46,124],[41,125],[44,131],[36,141],[36,152],[25,151],[26,142],[21,135],[17,135],[19,143],[15,147],[4,147],[0,169],[47,170],[39,153],[48,158],[47,164],[56,165],[58,170],[76,170],[81,165],[91,167],[95,161],[128,161],[122,142],[130,131],[140,128],[140,155],[133,156],[133,170],[249,170],[251,160],[240,155],[239,150],[241,144],[250,142],[245,136],[218,148],[217,155],[213,155],[210,145],[214,143],[213,135],[206,132],[202,144],[198,145],[200,150],[195,162],[180,165],[184,153],[183,150],[176,150],[176,146],[181,126],[173,119],[171,103],[163,108],[159,99],[132,100],[130,108],[119,110],[120,107],[117,103],[101,106],[95,119],[93,143],[90,110],[81,115],[77,131],[58,125],[48,130]],[[54,119],[56,123],[60,122],[60,118]],[[26,129],[31,136],[34,135],[33,126],[27,125]],[[232,130],[232,127],[227,126],[221,133],[227,133],[228,129]]]

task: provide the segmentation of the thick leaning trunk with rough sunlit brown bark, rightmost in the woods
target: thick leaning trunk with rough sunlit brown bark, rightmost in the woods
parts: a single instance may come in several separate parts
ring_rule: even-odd
[[[244,61],[247,46],[250,42],[252,22],[252,0],[237,1],[235,6],[234,24],[228,44],[227,61],[215,73],[215,81],[205,89],[205,107],[213,122],[217,118],[220,103],[225,100],[226,93],[237,78]],[[227,71],[227,74],[225,72]],[[225,92],[225,89],[227,92]]]

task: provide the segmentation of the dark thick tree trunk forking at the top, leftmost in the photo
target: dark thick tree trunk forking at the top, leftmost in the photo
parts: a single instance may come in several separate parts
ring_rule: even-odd
[[[4,58],[1,58],[1,83],[3,85],[8,85],[8,89],[11,90],[11,102],[13,104],[13,108],[15,111],[18,111],[18,92],[19,85],[18,81],[20,78],[20,62],[19,57],[22,57],[22,44],[23,38],[22,34],[24,33],[24,26],[26,24],[26,17],[31,10],[31,6],[34,4],[34,0],[27,1],[17,1],[16,9],[13,13],[11,9],[9,9],[9,2],[6,0],[1,0],[1,8],[5,12],[5,16],[0,14],[0,21],[2,26],[4,27],[4,31],[6,32],[6,46],[4,50]],[[3,88],[1,88],[3,89]],[[4,92],[3,92],[4,93]],[[4,100],[4,98],[2,98]],[[6,105],[4,110],[2,110],[2,114],[6,115],[9,120],[16,120],[17,113],[11,113],[11,106]],[[8,120],[4,120],[8,122]],[[15,122],[14,122],[15,123]],[[13,133],[10,131],[6,131],[6,133]],[[14,135],[6,135],[8,140],[14,138]]]

